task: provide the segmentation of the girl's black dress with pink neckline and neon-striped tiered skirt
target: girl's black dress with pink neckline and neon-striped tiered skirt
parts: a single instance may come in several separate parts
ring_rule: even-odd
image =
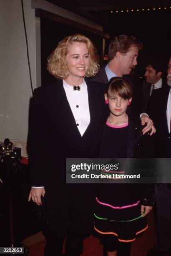
[[[128,124],[112,126],[106,123],[101,158],[126,158],[128,128]],[[132,242],[148,228],[141,214],[144,202],[138,187],[147,189],[141,184],[99,185],[94,213],[94,230],[99,238],[115,236],[120,242]],[[153,202],[146,205],[153,205]]]

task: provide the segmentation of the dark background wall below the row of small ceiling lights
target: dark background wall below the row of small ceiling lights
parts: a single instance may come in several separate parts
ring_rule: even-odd
[[[171,10],[135,11],[111,13],[111,38],[117,34],[136,36],[143,43],[140,61],[149,55],[168,59],[171,55]]]

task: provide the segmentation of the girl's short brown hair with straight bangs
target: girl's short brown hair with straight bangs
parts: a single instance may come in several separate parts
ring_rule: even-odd
[[[114,94],[117,94],[129,100],[133,95],[133,89],[128,79],[113,77],[107,84],[106,94],[108,97],[113,97]]]

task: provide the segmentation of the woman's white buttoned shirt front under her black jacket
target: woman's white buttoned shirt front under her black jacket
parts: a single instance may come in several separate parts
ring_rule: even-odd
[[[74,91],[73,86],[68,85],[63,80],[63,88],[75,118],[75,125],[77,125],[78,131],[83,136],[90,123],[87,84],[83,80],[83,83],[80,84],[80,91]]]

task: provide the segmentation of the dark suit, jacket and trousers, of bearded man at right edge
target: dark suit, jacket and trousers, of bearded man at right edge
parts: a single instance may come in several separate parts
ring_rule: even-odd
[[[148,104],[148,114],[156,127],[156,157],[158,158],[171,158],[171,133],[168,133],[166,115],[170,90],[169,86],[154,90]],[[163,171],[165,171],[164,166]],[[155,249],[167,252],[166,254],[169,254],[171,249],[171,226],[168,225],[171,223],[170,185],[170,183],[155,185],[158,233],[158,243]]]

